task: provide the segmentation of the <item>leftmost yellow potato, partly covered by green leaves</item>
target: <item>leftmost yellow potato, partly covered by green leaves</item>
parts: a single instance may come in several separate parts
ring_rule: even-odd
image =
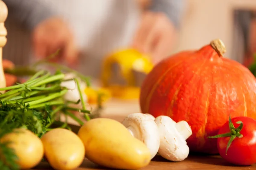
[[[29,130],[15,129],[12,133],[3,136],[0,142],[11,142],[8,146],[15,150],[20,169],[31,169],[43,159],[43,143]]]

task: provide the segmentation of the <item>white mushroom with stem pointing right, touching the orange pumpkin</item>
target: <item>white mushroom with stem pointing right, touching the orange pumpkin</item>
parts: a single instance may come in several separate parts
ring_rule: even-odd
[[[159,128],[160,147],[158,153],[169,161],[183,161],[189,155],[186,139],[192,130],[186,121],[176,123],[168,116],[158,116],[154,120]]]

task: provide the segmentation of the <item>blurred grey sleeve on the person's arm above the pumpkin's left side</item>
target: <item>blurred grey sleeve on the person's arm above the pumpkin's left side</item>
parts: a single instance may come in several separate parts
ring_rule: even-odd
[[[185,0],[151,0],[149,10],[165,13],[176,28],[180,25]]]

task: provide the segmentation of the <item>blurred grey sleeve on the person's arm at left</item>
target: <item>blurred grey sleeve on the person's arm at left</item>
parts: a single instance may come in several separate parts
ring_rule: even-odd
[[[33,29],[42,20],[55,15],[39,0],[3,0],[8,7],[10,16],[17,19],[24,26]]]

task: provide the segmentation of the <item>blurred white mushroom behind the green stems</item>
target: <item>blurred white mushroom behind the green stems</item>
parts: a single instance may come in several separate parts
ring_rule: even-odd
[[[77,102],[80,99],[80,94],[79,94],[79,90],[78,90],[78,87],[76,85],[76,82],[75,82],[75,80],[73,80],[73,78],[76,78],[75,74],[72,74],[72,73],[65,74],[64,79],[66,79],[66,80],[71,79],[71,80],[61,82],[61,86],[66,87],[66,88],[69,89],[67,91],[67,93],[64,95],[64,99],[69,100],[69,101],[73,101],[73,102]],[[84,88],[86,88],[86,85],[82,81],[79,81],[79,85],[80,85],[80,88],[81,88],[81,91],[82,91],[84,102],[86,102],[87,101],[87,96],[83,92]]]

